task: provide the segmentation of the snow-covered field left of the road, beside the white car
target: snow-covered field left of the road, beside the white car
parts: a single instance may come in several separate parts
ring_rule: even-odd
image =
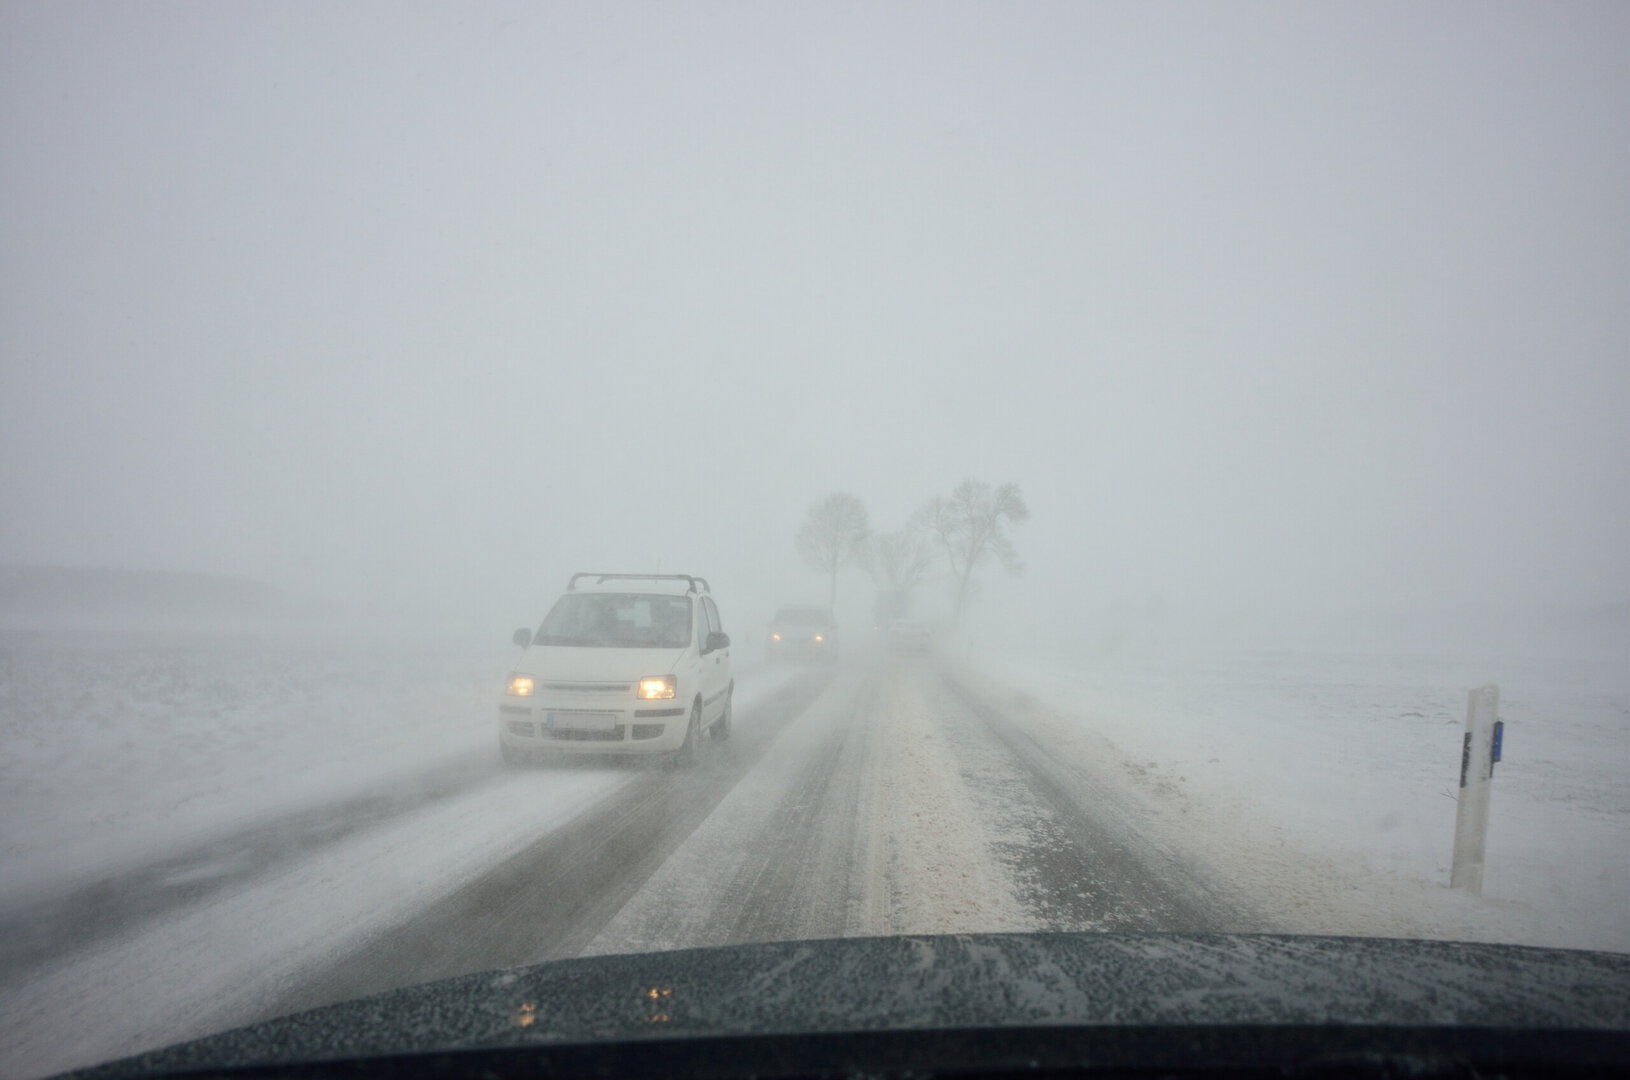
[[[7,630],[0,902],[494,754],[515,650]]]

